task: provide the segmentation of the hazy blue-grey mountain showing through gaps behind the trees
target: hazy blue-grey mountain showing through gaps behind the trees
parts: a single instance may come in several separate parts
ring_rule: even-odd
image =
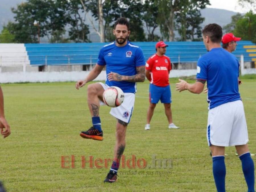
[[[1,2],[0,6],[0,32],[3,29],[3,26],[8,23],[8,21],[14,21],[14,14],[11,12],[11,7],[17,8],[17,4],[20,4],[22,2],[26,2],[26,0],[0,0]],[[202,27],[209,23],[217,23],[220,26],[224,26],[226,24],[229,24],[231,22],[231,17],[235,15],[236,13],[233,11],[227,11],[224,9],[214,9],[214,8],[206,8],[201,10],[202,17],[205,18],[204,22],[202,23]],[[97,26],[97,21],[94,22],[95,27]],[[89,34],[89,39],[92,42],[99,42],[100,38],[96,34],[96,32],[93,30],[93,27],[91,26],[90,22],[87,21],[87,24],[89,24],[89,28],[91,33]],[[144,30],[146,31],[146,27],[144,27]],[[155,34],[160,36],[160,30],[159,28],[156,28]],[[177,37],[178,34],[175,33],[175,37]],[[42,42],[46,43],[47,39],[42,38]]]

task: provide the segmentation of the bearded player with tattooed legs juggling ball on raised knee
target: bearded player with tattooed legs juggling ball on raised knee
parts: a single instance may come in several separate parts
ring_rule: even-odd
[[[79,80],[75,85],[77,89],[84,86],[87,82],[95,79],[106,66],[107,79],[105,84],[93,83],[87,88],[87,103],[93,126],[80,133],[81,137],[87,139],[103,140],[99,108],[100,104],[103,104],[104,90],[109,86],[117,86],[124,92],[122,105],[110,110],[110,114],[117,119],[114,161],[104,180],[104,182],[110,183],[117,179],[119,161],[124,152],[126,128],[132,116],[135,101],[136,82],[144,82],[145,80],[144,55],[141,48],[128,41],[130,31],[126,18],[119,18],[115,22],[113,34],[116,40],[101,48],[95,67],[85,80]]]

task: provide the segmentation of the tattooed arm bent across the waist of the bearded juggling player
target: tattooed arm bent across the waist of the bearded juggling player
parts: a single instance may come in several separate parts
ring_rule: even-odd
[[[128,81],[128,82],[144,82],[145,81],[145,66],[136,67],[137,74],[132,76],[119,75],[118,73],[108,73],[110,81]]]

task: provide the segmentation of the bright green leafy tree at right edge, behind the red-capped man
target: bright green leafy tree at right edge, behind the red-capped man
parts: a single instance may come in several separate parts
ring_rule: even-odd
[[[250,40],[256,43],[256,14],[249,11],[244,17],[237,20],[233,32],[235,36],[241,37],[242,40]]]

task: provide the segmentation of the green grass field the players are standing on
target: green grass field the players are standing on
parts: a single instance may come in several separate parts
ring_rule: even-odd
[[[256,80],[248,76],[242,81],[249,148],[256,153]],[[147,167],[120,168],[112,184],[103,183],[110,163],[108,168],[89,168],[89,163],[81,168],[81,156],[113,156],[116,120],[109,107],[100,109],[104,140],[87,140],[79,136],[91,126],[86,87],[76,90],[74,82],[2,84],[12,133],[0,139],[0,180],[8,191],[216,191],[206,140],[206,94],[179,93],[174,88],[177,79],[170,82],[173,119],[181,129],[168,129],[163,105],[158,104],[151,130],[144,130],[149,82],[138,83],[124,155],[126,160],[132,155],[144,158]],[[226,190],[247,191],[235,148],[226,148],[226,153]],[[65,166],[71,166],[71,155],[75,168],[62,168],[61,156],[69,156]],[[172,168],[152,168],[153,155],[170,159]]]

